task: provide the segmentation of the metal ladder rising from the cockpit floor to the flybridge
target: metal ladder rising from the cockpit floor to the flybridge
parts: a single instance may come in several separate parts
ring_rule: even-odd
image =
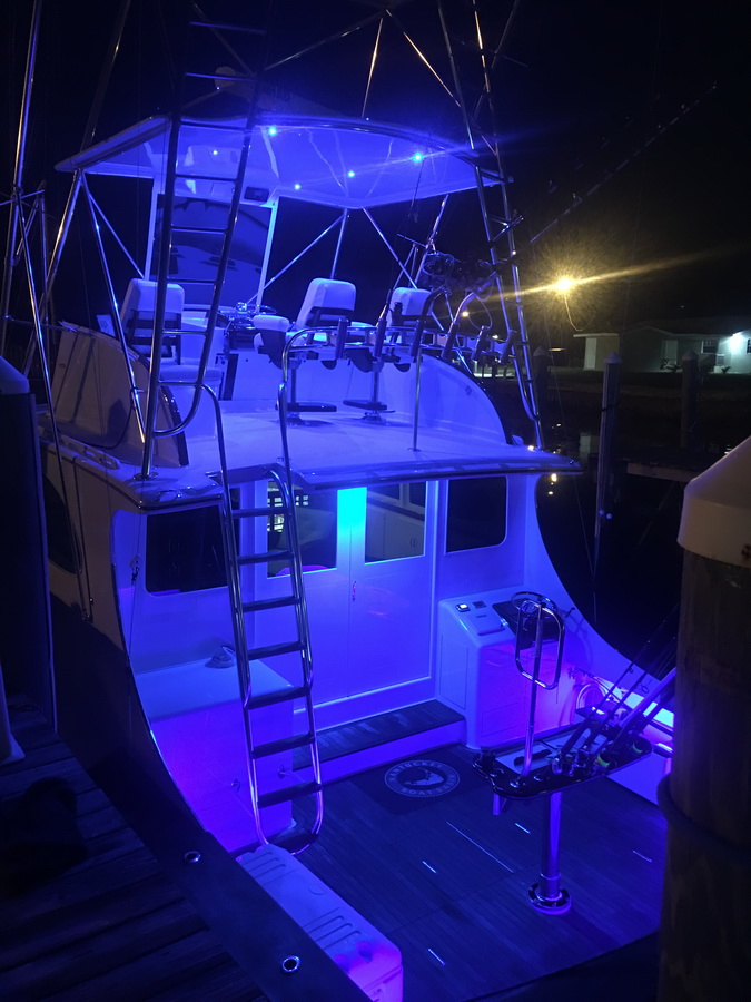
[[[254,471],[254,479],[241,483],[230,483],[227,471],[226,451],[221,428],[219,402],[211,391],[217,418],[219,458],[221,468],[216,479],[223,488],[221,524],[227,567],[235,656],[243,701],[243,718],[248,759],[250,802],[256,823],[257,842],[244,846],[240,852],[260,844],[280,845],[293,854],[307,848],[317,837],[324,818],[323,780],[320,757],[313,706],[313,657],[310,631],[303,581],[303,562],[297,527],[295,491],[287,448],[286,429],[283,434],[285,461]],[[256,485],[261,481],[271,482],[276,494],[269,501],[256,505]],[[256,531],[259,520],[281,519],[286,537],[284,549],[259,549],[255,541],[261,533]],[[276,580],[287,586],[283,595],[270,598],[248,599],[244,579],[253,574],[258,564],[279,562],[288,572],[277,573]],[[286,609],[279,626],[279,618],[269,629],[261,629],[263,617],[274,616],[276,610]],[[278,631],[274,642],[249,646],[248,637],[257,633]],[[271,669],[274,664],[284,664],[284,674]],[[294,664],[294,668],[290,667]],[[271,669],[271,670],[269,670]],[[294,680],[290,681],[290,676]],[[269,685],[269,677],[273,679]],[[257,735],[268,729],[268,711],[273,707],[287,705],[290,713],[286,718],[287,734],[269,740],[259,740]],[[293,713],[293,707],[303,713]],[[302,729],[295,733],[295,718],[302,718]],[[299,765],[296,758],[305,759]],[[277,756],[274,762],[273,756]],[[265,768],[264,764],[273,764]],[[276,765],[281,762],[281,766]],[[298,779],[305,770],[306,778]],[[261,780],[263,772],[263,780]],[[300,818],[295,818],[281,832],[267,834],[265,812],[278,805],[296,803],[300,807]],[[273,813],[273,812],[271,812]]]

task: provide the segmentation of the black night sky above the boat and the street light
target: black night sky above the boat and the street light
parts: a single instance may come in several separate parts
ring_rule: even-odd
[[[446,3],[466,92],[480,78],[472,45],[471,2]],[[134,0],[122,59],[102,110],[103,137],[166,107],[169,60],[164,30],[174,41],[177,0]],[[214,4],[208,4],[214,10]],[[247,10],[219,3],[218,16]],[[264,4],[250,4],[255,9]],[[365,0],[278,0],[273,6],[270,59],[377,12]],[[441,88],[403,41],[398,28],[438,52],[441,33],[431,0],[392,4],[384,28],[369,111],[419,128],[458,135],[461,122]],[[510,194],[522,222],[516,228],[522,277],[527,284],[562,272],[577,277],[626,271],[597,283],[572,303],[590,330],[623,328],[648,317],[751,313],[749,237],[748,81],[740,4],[711,9],[679,0],[555,2],[522,0],[494,73],[495,121]],[[14,118],[26,59],[31,0],[3,4],[6,153],[0,170],[10,189]],[[511,2],[477,0],[494,48]],[[50,180],[50,202],[66,189],[51,166],[81,143],[116,2],[68,0],[43,4],[38,90],[29,135],[27,190]],[[293,92],[336,107],[362,109],[376,23],[295,60],[274,79]],[[449,78],[445,57],[436,66]],[[461,216],[461,212],[458,213]],[[448,218],[449,232],[452,219]],[[448,253],[483,256],[482,242],[462,235]],[[451,238],[451,237],[449,237]]]

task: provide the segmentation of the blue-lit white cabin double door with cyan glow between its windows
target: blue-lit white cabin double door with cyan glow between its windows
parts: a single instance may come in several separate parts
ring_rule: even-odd
[[[426,500],[434,491],[387,484],[297,498],[322,726],[342,717],[342,700],[353,719],[429,695],[434,518]],[[284,546],[278,521],[280,542],[269,529],[269,549]],[[264,569],[259,597],[281,593],[280,576],[280,566]]]

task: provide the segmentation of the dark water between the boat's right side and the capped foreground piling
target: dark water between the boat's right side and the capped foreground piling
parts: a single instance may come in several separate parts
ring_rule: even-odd
[[[488,395],[496,397],[506,428],[531,441],[513,381],[504,384],[498,394]],[[678,632],[684,483],[629,472],[628,461],[643,460],[655,449],[675,449],[680,413],[668,410],[660,421],[639,412],[616,414],[611,518],[601,522],[595,560],[600,406],[597,396],[587,394],[549,409],[545,446],[571,456],[582,472],[555,483],[542,479],[540,524],[563,583],[590,622],[626,657],[661,674]]]

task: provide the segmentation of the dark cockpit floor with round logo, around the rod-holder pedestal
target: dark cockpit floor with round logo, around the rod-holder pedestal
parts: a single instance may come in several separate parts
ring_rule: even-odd
[[[542,800],[494,817],[490,787],[471,768],[473,753],[453,745],[414,757],[451,765],[458,786],[404,796],[387,787],[384,766],[332,784],[319,839],[300,856],[399,947],[405,1002],[505,998],[595,957],[583,992],[569,975],[575,994],[556,986],[546,995],[538,983],[530,998],[653,999],[664,856],[659,809],[612,779],[567,790],[561,883],[572,908],[541,915],[527,891],[540,875]]]

